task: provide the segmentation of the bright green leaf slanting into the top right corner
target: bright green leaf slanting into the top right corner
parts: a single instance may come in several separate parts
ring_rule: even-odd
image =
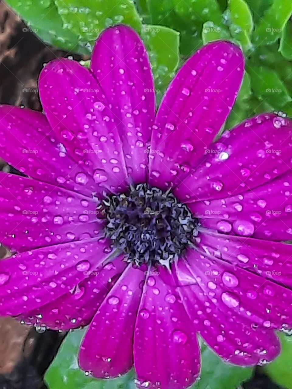
[[[281,37],[291,14],[291,0],[274,0],[255,28],[254,43],[262,46],[276,42]]]

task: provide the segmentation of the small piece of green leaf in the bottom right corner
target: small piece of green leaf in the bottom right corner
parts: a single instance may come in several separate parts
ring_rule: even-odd
[[[277,384],[292,389],[292,336],[279,332],[281,354],[264,366],[265,373]]]

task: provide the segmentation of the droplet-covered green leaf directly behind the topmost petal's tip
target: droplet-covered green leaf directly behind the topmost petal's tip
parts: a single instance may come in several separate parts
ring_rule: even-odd
[[[133,0],[55,0],[65,26],[91,49],[102,30],[120,23],[141,31],[141,20]]]

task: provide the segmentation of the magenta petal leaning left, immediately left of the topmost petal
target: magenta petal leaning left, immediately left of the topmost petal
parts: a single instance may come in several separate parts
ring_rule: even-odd
[[[49,123],[71,158],[93,176],[96,190],[124,189],[128,180],[118,121],[91,72],[75,61],[51,61],[40,73],[39,89]],[[75,173],[86,185],[88,175]]]

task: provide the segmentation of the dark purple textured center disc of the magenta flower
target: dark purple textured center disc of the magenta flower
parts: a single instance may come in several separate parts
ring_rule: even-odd
[[[198,219],[170,193],[148,184],[103,200],[105,235],[135,265],[164,265],[183,256],[197,235]]]

